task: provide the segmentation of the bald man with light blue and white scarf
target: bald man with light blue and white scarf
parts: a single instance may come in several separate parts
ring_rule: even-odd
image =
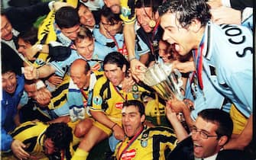
[[[70,107],[70,119],[80,122],[76,124],[74,134],[82,137],[92,126],[89,118],[89,109],[92,101],[92,89],[96,80],[102,77],[103,72],[91,71],[88,62],[84,59],[76,59],[70,66],[70,85],[67,94],[67,102]]]

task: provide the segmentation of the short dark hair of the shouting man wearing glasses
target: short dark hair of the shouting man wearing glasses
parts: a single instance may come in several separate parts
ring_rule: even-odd
[[[216,134],[218,137],[228,136],[231,138],[233,131],[233,122],[228,113],[219,109],[206,109],[199,112],[198,117],[202,117],[203,120],[215,123],[218,125]]]

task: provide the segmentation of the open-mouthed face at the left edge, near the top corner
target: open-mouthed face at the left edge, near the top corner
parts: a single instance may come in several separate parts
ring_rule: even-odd
[[[1,38],[3,40],[11,40],[13,34],[11,32],[12,26],[5,15],[1,16]]]

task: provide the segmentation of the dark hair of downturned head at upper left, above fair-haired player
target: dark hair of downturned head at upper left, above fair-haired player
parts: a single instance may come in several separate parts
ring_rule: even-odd
[[[56,11],[55,21],[60,29],[70,28],[80,24],[76,8],[66,6]]]

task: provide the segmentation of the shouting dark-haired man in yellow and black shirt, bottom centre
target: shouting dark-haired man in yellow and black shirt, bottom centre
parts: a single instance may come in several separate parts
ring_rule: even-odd
[[[141,101],[125,101],[122,126],[127,137],[116,147],[116,159],[165,159],[164,152],[177,145],[177,137],[170,128],[144,125],[144,110]]]

